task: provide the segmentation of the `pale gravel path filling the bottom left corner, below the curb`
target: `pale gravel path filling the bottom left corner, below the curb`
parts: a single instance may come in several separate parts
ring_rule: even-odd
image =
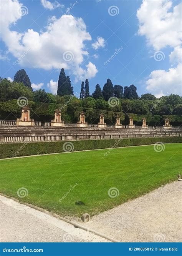
[[[4,196],[0,209],[0,242],[109,242]]]

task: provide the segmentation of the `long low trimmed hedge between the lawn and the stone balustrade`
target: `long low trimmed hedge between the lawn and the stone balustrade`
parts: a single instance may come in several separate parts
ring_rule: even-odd
[[[102,148],[116,148],[125,146],[149,145],[156,142],[162,143],[182,143],[182,137],[160,137],[160,138],[128,138],[117,140],[80,140],[71,141],[74,146],[73,151],[93,150]],[[0,144],[0,159],[15,156],[43,155],[50,153],[61,153],[63,145],[69,141],[57,142],[37,142],[37,143],[11,143]]]

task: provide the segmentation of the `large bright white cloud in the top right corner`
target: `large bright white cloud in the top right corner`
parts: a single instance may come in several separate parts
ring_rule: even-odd
[[[167,0],[143,0],[137,18],[139,35],[145,35],[149,45],[156,51],[166,47],[176,47],[181,43],[181,7],[176,5],[172,12],[172,2]]]

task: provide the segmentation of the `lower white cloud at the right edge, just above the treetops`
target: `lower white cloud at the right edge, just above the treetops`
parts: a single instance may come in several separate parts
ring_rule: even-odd
[[[149,75],[149,79],[146,82],[147,90],[153,93],[156,97],[169,95],[171,93],[181,95],[181,71],[181,63],[179,63],[176,68],[169,68],[168,71],[152,71]]]

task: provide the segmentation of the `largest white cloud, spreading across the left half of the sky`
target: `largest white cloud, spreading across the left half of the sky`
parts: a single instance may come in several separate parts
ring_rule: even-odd
[[[89,55],[85,50],[85,41],[91,40],[91,36],[86,31],[82,18],[75,18],[72,15],[62,15],[58,19],[53,17],[49,19],[45,32],[28,29],[25,33],[19,33],[10,30],[10,25],[24,18],[17,13],[17,9],[22,4],[18,0],[2,0],[1,6],[2,40],[7,45],[8,51],[17,59],[26,52],[25,56],[20,58],[18,65],[45,70],[52,68],[74,70],[77,79],[81,79],[83,73],[88,72],[87,69],[81,68],[81,65],[84,57]],[[31,50],[27,51],[27,49]],[[74,58],[70,61],[65,60],[65,52],[71,52]],[[91,64],[88,65],[91,68]],[[89,72],[91,73],[93,76],[96,74]]]

